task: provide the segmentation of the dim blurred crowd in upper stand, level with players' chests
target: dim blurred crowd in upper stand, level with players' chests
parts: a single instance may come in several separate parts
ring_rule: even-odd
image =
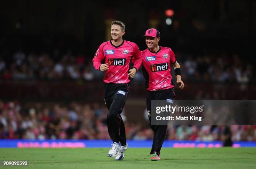
[[[177,52],[184,81],[248,83],[253,81],[253,66],[243,56],[232,54],[189,55]],[[24,53],[18,50],[11,57],[0,55],[0,80],[102,79],[103,73],[92,66],[92,56],[74,54],[71,50]],[[135,80],[143,81],[141,72]]]

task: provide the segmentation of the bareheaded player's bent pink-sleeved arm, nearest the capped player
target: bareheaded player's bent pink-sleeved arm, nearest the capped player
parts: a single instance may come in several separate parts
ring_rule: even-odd
[[[133,57],[134,57],[134,65],[133,65],[133,68],[129,70],[129,74],[128,74],[128,76],[130,76],[131,78],[134,78],[136,72],[141,67],[141,63],[142,63],[141,51],[139,50],[136,44],[134,46]]]

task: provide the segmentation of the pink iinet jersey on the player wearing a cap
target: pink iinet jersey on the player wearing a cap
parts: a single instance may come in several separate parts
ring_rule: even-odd
[[[171,64],[176,62],[172,49],[159,46],[157,52],[149,49],[142,53],[142,71],[148,91],[159,91],[173,88]]]

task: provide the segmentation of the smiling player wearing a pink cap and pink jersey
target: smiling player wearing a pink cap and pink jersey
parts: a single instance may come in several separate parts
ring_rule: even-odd
[[[147,110],[151,129],[154,131],[154,139],[150,154],[151,160],[160,160],[160,150],[166,137],[167,125],[151,125],[151,100],[166,100],[173,103],[175,99],[174,83],[172,82],[171,65],[174,67],[179,88],[184,88],[181,80],[181,69],[176,61],[174,52],[170,48],[159,46],[160,33],[158,30],[148,29],[146,37],[147,49],[142,53],[142,71],[146,79]]]

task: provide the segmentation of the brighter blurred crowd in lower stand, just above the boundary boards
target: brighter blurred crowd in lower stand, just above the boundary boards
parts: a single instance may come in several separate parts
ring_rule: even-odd
[[[105,106],[98,103],[21,106],[17,101],[0,101],[0,139],[110,139],[107,113]],[[125,120],[127,139],[152,139],[146,118],[144,122]],[[169,126],[166,139],[220,140],[223,129],[224,126]],[[230,131],[233,141],[256,141],[256,126],[230,126]]]

